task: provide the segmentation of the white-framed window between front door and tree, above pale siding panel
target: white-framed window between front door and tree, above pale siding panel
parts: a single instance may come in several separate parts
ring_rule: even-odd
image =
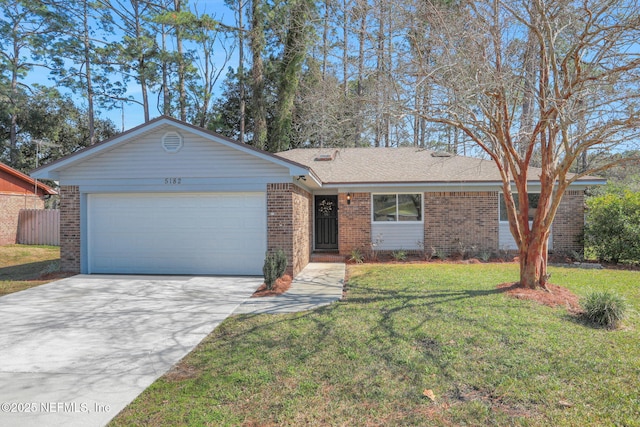
[[[422,222],[421,193],[371,195],[373,222]]]

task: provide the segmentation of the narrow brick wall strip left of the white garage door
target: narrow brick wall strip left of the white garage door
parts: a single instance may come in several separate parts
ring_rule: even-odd
[[[80,272],[80,190],[60,187],[60,269]]]

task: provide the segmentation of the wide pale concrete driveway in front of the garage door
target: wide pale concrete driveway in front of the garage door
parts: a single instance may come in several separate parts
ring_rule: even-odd
[[[0,298],[0,425],[106,424],[262,281],[80,275]]]

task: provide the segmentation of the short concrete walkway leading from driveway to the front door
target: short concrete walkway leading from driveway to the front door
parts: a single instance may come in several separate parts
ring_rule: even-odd
[[[249,298],[233,314],[295,313],[331,304],[342,298],[344,275],[343,263],[309,263],[286,293]]]

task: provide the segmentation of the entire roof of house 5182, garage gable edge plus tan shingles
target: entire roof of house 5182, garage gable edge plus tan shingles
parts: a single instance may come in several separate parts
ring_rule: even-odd
[[[337,185],[424,185],[499,184],[500,174],[492,160],[465,156],[443,156],[417,147],[398,148],[298,148],[272,154],[239,143],[207,129],[161,116],[100,143],[83,148],[32,171],[35,178],[57,180],[59,172],[80,162],[113,150],[159,128],[171,126],[211,141],[283,166],[291,176],[311,177],[311,187]],[[17,172],[17,171],[16,171]],[[541,170],[530,168],[528,180],[539,181]],[[26,175],[25,175],[26,176]],[[27,179],[31,179],[27,177]],[[606,180],[582,177],[581,185],[601,185]]]

